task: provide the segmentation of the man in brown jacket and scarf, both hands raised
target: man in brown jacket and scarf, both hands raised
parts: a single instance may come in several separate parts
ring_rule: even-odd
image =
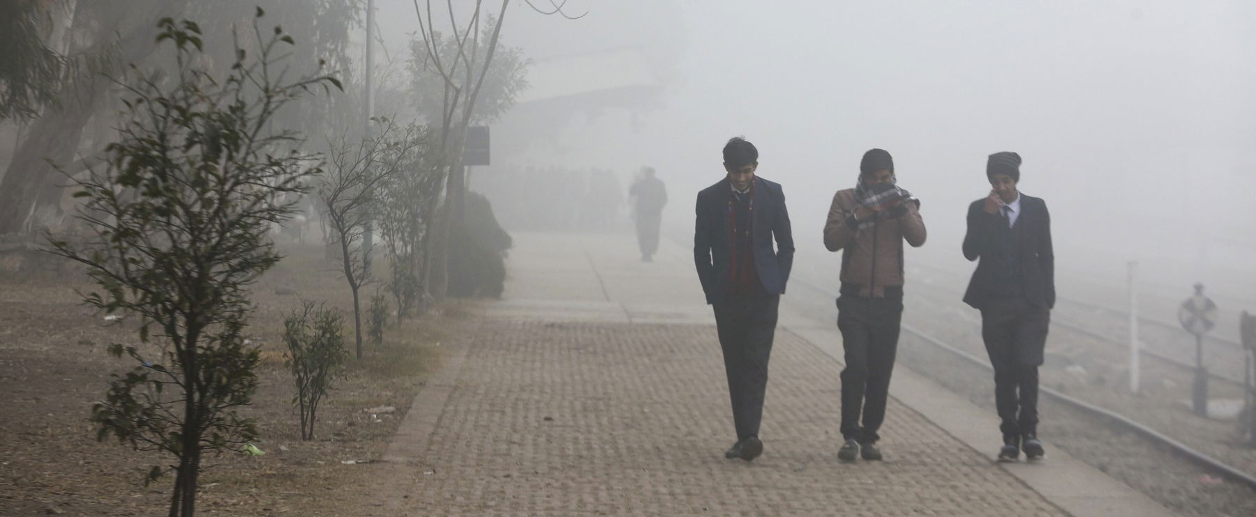
[[[868,151],[859,163],[855,188],[833,196],[824,225],[824,246],[843,250],[838,330],[847,359],[842,370],[845,443],[838,458],[845,462],[858,456],[882,458],[874,444],[885,419],[903,314],[903,241],[913,247],[924,245],[921,203],[896,183],[889,153]]]

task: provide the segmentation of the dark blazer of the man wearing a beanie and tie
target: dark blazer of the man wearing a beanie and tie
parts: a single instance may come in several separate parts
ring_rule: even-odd
[[[1016,252],[1022,266],[1021,277],[1025,297],[1030,304],[1051,309],[1055,306],[1055,253],[1051,250],[1051,215],[1046,202],[1037,197],[1021,196],[1021,215],[1016,217],[1012,232],[1019,237]],[[963,256],[970,261],[981,258],[972,272],[963,301],[982,309],[991,297],[993,266],[986,257],[995,253],[995,232],[1002,218],[986,212],[986,200],[968,205],[968,232],[963,236]],[[993,260],[993,258],[991,258]]]

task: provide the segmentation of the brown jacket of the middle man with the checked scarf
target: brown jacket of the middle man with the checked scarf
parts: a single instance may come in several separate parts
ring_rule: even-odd
[[[884,297],[884,287],[903,285],[903,240],[912,247],[924,245],[924,220],[917,203],[907,203],[907,213],[897,218],[850,230],[847,218],[858,205],[854,188],[833,195],[829,220],[824,225],[824,247],[845,250],[842,284],[859,286],[860,296]]]

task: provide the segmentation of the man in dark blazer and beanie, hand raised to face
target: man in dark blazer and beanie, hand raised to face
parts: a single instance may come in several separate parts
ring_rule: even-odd
[[[995,366],[1002,423],[1000,461],[1042,457],[1037,439],[1037,366],[1055,306],[1055,255],[1046,203],[1020,193],[1020,154],[986,162],[990,195],[968,206],[963,256],[978,260],[963,301],[981,311],[981,336]]]

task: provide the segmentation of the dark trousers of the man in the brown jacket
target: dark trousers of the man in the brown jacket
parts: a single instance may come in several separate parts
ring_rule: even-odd
[[[885,422],[889,375],[894,370],[902,319],[902,291],[888,297],[850,294],[838,297],[838,330],[847,359],[847,368],[842,370],[843,439],[860,443],[880,439],[877,430]]]

